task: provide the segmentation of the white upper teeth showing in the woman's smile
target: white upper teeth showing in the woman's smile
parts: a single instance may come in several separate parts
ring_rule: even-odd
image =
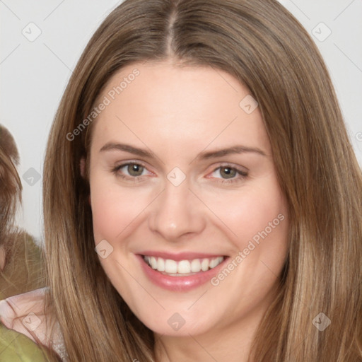
[[[142,255],[144,262],[153,270],[160,274],[168,276],[189,276],[200,272],[214,269],[221,264],[226,257],[197,258],[192,260],[175,261],[173,259],[163,259],[162,257],[153,257]]]

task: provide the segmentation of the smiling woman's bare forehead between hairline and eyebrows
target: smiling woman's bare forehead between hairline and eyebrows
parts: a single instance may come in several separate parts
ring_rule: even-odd
[[[269,153],[259,108],[245,112],[243,100],[250,97],[236,78],[211,66],[131,64],[98,97],[95,105],[107,105],[97,116],[92,143],[127,139],[168,153],[187,145],[200,151],[211,143],[241,143]]]

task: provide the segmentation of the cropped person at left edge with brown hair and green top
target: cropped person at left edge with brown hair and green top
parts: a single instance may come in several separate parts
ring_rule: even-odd
[[[28,233],[14,226],[22,189],[16,170],[18,163],[13,136],[0,124],[0,299],[45,285],[39,247]],[[25,361],[25,358],[45,361],[33,341],[0,324],[0,361]]]

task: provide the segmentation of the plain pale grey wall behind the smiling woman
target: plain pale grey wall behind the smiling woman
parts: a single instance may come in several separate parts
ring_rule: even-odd
[[[21,154],[18,224],[39,241],[42,162],[52,119],[83,48],[120,2],[0,0],[0,123],[11,131]],[[362,165],[362,0],[280,2],[322,52]]]

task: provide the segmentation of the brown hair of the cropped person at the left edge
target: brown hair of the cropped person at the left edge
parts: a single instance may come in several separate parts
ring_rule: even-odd
[[[14,226],[21,180],[19,154],[13,136],[0,124],[0,298],[44,286],[40,249],[28,233]]]

